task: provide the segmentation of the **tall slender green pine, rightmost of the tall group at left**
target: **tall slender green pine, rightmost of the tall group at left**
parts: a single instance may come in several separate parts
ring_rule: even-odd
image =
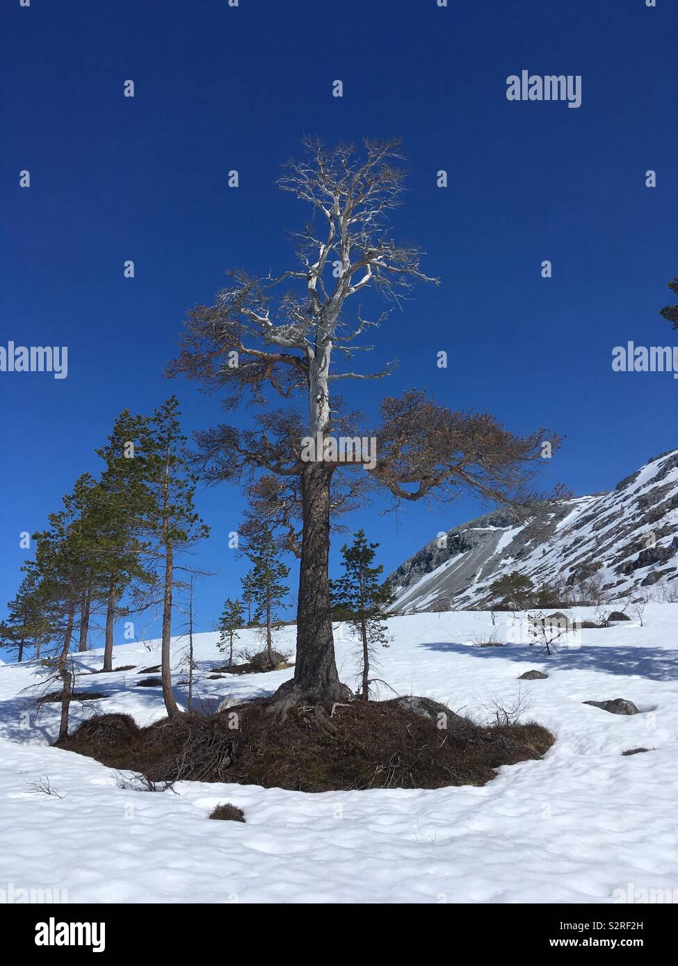
[[[189,469],[179,415],[179,401],[171,396],[155,411],[145,440],[146,478],[153,494],[147,526],[156,539],[162,561],[162,697],[170,718],[179,714],[172,694],[169,651],[175,557],[209,535],[209,527],[195,512],[196,478]]]

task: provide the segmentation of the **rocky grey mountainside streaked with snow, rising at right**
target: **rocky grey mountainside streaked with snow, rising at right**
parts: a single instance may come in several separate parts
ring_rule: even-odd
[[[536,586],[575,585],[599,574],[609,598],[657,582],[678,590],[678,449],[609,493],[545,502],[520,521],[497,510],[454,527],[390,576],[393,610],[478,606],[487,585],[514,570]]]

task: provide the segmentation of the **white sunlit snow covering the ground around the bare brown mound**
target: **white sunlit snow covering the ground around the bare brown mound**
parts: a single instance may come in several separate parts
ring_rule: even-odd
[[[499,615],[500,639],[503,621]],[[36,664],[5,664],[0,895],[65,890],[70,902],[609,902],[672,890],[664,899],[678,900],[678,605],[649,605],[642,627],[585,630],[580,646],[552,657],[527,644],[473,646],[492,630],[484,612],[422,613],[389,624],[393,639],[380,652],[379,676],[398,693],[435,697],[480,721],[495,701],[514,703],[519,684],[527,702],[522,720],[556,736],[545,758],[501,768],[483,788],[305,794],[185,781],[175,786],[178,794],[133,791],[98,762],[48,747],[58,706],[48,705],[36,720],[26,691],[36,683]],[[281,632],[282,648],[291,649],[293,632]],[[269,694],[292,673],[210,680],[223,663],[216,639],[195,640],[195,690],[205,707],[227,695]],[[239,644],[253,642],[247,632]],[[177,668],[183,643],[175,648]],[[354,646],[340,628],[338,664],[348,683]],[[101,652],[76,660],[83,670],[98,668]],[[114,665],[135,668],[81,675],[78,690],[108,696],[74,705],[73,726],[103,711],[132,714],[139,725],[161,718],[160,689],[135,687],[138,669],[159,660],[157,642],[116,646]],[[547,680],[518,682],[529,668],[545,670]],[[612,697],[629,698],[641,713],[623,717],[582,704]],[[622,755],[637,746],[650,751]],[[60,797],[37,791],[41,781]],[[243,809],[246,823],[207,821],[220,802]]]

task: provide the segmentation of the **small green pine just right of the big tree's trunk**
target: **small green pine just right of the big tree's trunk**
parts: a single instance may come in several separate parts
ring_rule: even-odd
[[[378,546],[376,543],[368,544],[365,530],[358,530],[352,545],[344,544],[341,548],[345,570],[343,577],[330,584],[334,615],[347,621],[360,636],[363,659],[361,697],[365,701],[369,699],[369,665],[374,656],[373,645],[388,643],[384,621],[388,617],[386,609],[393,601],[391,588],[379,581],[383,565],[372,566],[374,551]]]

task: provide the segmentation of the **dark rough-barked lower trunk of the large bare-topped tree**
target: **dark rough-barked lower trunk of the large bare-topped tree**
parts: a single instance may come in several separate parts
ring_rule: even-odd
[[[330,478],[324,463],[309,463],[302,472],[304,532],[297,604],[297,659],[294,678],[276,693],[272,711],[298,701],[341,701],[350,696],[339,683],[332,637],[330,581]]]

